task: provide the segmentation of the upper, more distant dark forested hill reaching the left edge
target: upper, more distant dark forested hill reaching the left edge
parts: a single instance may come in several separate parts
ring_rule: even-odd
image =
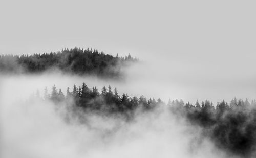
[[[0,71],[5,73],[41,73],[58,69],[64,73],[118,76],[120,67],[137,58],[113,56],[92,49],[63,49],[34,55],[0,55]]]

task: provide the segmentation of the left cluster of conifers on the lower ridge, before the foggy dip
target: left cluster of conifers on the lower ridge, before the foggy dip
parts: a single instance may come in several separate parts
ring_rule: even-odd
[[[55,103],[65,102],[67,100],[73,100],[77,107],[91,110],[105,110],[108,112],[125,112],[127,110],[135,110],[142,105],[143,109],[152,109],[157,105],[163,104],[161,99],[157,101],[148,99],[141,95],[140,97],[129,97],[127,93],[119,95],[117,88],[112,90],[109,85],[108,88],[103,86],[101,91],[97,87],[89,88],[85,83],[77,87],[73,86],[71,90],[69,87],[66,91],[66,96],[61,89],[52,87],[51,93],[48,93],[47,87],[44,90],[44,100],[52,100]]]

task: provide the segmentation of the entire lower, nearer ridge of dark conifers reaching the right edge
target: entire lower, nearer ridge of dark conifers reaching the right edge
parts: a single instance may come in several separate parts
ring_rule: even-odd
[[[36,93],[39,97],[39,93]],[[242,157],[252,156],[256,145],[256,100],[251,103],[246,99],[232,99],[230,103],[224,100],[217,103],[205,100],[201,104],[197,100],[193,105],[180,100],[169,100],[165,104],[161,99],[157,101],[147,99],[143,95],[139,98],[129,97],[123,93],[118,94],[111,86],[102,88],[101,92],[97,87],[89,88],[85,83],[73,90],[67,88],[66,96],[61,89],[52,87],[49,94],[45,88],[43,100],[51,100],[57,105],[63,103],[72,104],[72,107],[79,111],[101,111],[108,114],[123,114],[133,117],[136,109],[152,111],[160,106],[167,106],[177,117],[186,118],[191,124],[203,128],[202,137],[210,137],[217,147],[228,151],[230,154]]]

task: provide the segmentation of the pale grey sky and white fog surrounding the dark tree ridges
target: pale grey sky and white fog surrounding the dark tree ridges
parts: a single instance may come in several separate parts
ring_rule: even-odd
[[[122,117],[71,115],[66,105],[29,100],[55,84],[66,92],[85,82],[99,90],[148,98],[254,99],[255,2],[244,1],[1,1],[0,54],[95,48],[140,62],[123,67],[120,79],[49,71],[0,74],[2,157],[228,157],[201,129],[165,107]],[[81,114],[82,115],[82,114]]]

